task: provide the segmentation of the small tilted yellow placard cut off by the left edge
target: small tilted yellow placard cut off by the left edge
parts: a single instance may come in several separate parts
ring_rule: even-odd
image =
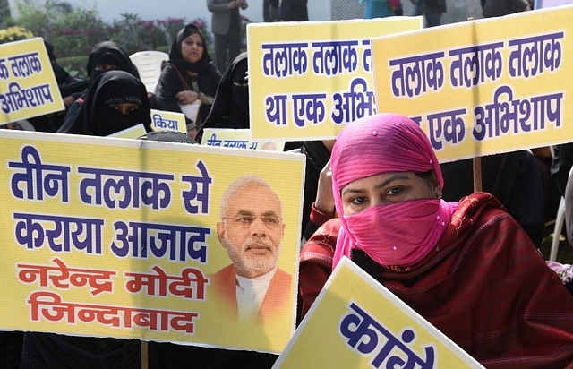
[[[0,124],[64,110],[44,40],[0,45]]]

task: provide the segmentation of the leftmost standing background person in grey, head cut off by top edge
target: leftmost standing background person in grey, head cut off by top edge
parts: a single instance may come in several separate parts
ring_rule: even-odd
[[[241,17],[239,8],[246,9],[245,0],[207,0],[211,15],[211,31],[215,35],[215,58],[219,73],[227,62],[241,53]],[[228,50],[228,55],[227,55]]]

